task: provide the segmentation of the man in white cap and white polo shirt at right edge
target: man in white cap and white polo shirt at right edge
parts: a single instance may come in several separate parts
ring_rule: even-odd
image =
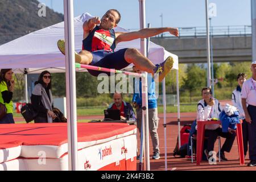
[[[256,61],[251,63],[251,72],[252,77],[243,83],[241,98],[249,133],[250,163],[247,166],[256,166]]]

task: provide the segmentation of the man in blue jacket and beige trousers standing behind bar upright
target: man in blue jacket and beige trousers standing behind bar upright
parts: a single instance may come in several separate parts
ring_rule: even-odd
[[[133,67],[133,71],[135,73],[141,73],[137,67]],[[149,131],[152,139],[153,151],[154,155],[152,159],[160,159],[160,152],[159,152],[159,138],[158,138],[158,107],[157,107],[157,100],[155,96],[155,81],[154,77],[151,77],[148,74],[148,126]],[[139,88],[138,88],[139,87]],[[137,90],[136,90],[137,88]],[[139,132],[141,133],[141,124],[142,124],[142,81],[141,78],[135,80],[135,93],[133,95],[133,106],[136,108],[137,113],[137,127]]]

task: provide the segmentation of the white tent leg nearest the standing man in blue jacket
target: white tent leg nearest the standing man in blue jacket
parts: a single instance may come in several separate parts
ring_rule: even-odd
[[[167,171],[167,141],[166,141],[166,78],[162,82],[163,88],[163,111],[164,111],[164,168]]]

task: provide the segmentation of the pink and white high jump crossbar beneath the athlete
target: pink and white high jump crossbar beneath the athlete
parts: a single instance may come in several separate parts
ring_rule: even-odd
[[[102,67],[96,67],[93,65],[80,64],[80,63],[76,63],[76,68],[86,68],[86,69],[92,69],[92,70],[96,70],[96,71],[103,71],[103,72],[110,72],[110,73],[123,73],[125,75],[145,77],[145,74],[143,74],[143,73],[126,72],[126,71],[121,71],[118,69],[102,68]]]

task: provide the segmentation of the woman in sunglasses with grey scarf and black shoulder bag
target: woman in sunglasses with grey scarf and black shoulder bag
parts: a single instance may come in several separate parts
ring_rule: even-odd
[[[38,112],[35,123],[52,123],[56,117],[53,113],[53,98],[51,92],[51,73],[43,71],[35,82],[35,88],[31,95],[31,104]]]

